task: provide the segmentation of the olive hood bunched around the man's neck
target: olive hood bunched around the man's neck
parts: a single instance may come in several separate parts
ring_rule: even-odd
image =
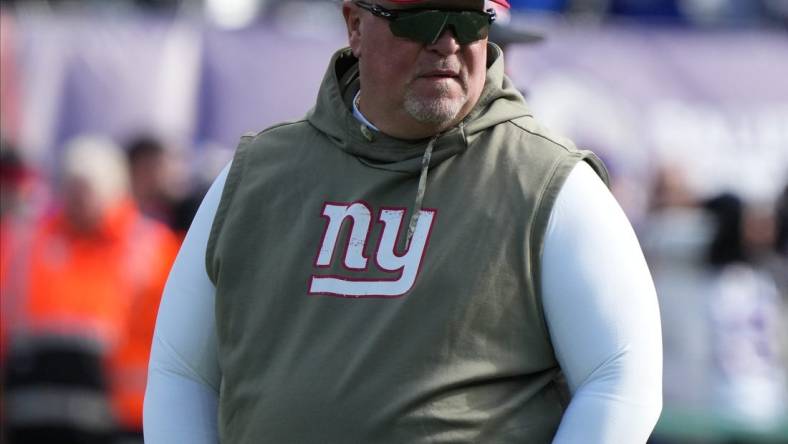
[[[494,43],[487,47],[487,66],[479,101],[459,125],[434,141],[430,168],[465,151],[485,129],[530,115],[523,96],[504,75],[503,52]],[[317,103],[307,114],[308,122],[370,167],[417,174],[431,139],[398,139],[367,128],[352,113],[352,100],[359,87],[358,59],[349,48],[337,51],[323,78]]]

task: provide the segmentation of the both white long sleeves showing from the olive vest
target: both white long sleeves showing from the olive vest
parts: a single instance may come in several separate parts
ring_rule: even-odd
[[[228,170],[208,191],[164,290],[145,396],[148,444],[218,442],[216,289],[205,251]],[[584,162],[552,210],[541,273],[550,337],[572,393],[553,442],[645,442],[662,408],[657,297],[629,221]]]

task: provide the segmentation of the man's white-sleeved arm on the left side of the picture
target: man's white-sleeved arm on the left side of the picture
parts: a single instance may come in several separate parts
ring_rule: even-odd
[[[145,391],[148,444],[215,444],[221,373],[205,249],[229,165],[194,217],[162,296]]]

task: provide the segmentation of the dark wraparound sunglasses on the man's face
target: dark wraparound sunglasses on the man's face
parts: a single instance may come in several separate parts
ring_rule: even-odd
[[[391,10],[367,2],[354,2],[376,17],[389,21],[391,33],[397,37],[428,45],[438,41],[443,31],[451,28],[461,45],[487,37],[495,21],[495,10],[461,11],[443,9]]]

